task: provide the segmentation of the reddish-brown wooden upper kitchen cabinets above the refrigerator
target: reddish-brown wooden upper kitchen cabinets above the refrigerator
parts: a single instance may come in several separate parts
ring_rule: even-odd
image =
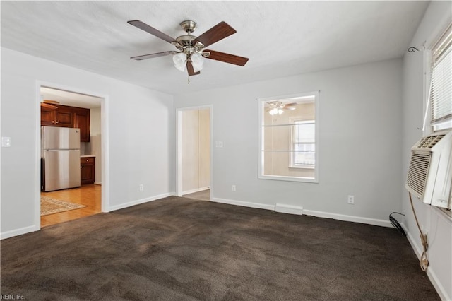
[[[56,105],[57,109],[41,107],[42,126],[63,126],[80,129],[80,141],[90,141],[90,109]]]

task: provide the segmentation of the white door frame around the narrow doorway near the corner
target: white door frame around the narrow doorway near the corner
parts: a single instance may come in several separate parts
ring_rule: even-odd
[[[209,109],[209,136],[210,136],[210,200],[213,197],[213,105],[200,105],[196,107],[178,107],[176,109],[176,195],[182,196],[182,113],[184,111],[199,111]]]

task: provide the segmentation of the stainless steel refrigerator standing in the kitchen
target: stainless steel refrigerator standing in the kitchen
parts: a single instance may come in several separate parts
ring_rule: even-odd
[[[41,190],[79,187],[80,129],[41,126]]]

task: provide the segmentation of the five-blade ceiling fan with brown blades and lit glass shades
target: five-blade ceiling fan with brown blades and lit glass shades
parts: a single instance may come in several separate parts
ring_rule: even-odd
[[[206,31],[206,33],[203,33],[199,37],[191,35],[191,33],[196,30],[196,23],[194,21],[182,21],[180,25],[186,32],[186,35],[181,35],[175,39],[151,27],[150,25],[141,22],[140,20],[131,20],[127,23],[144,30],[146,33],[160,37],[160,39],[169,42],[177,49],[177,51],[157,52],[153,54],[140,55],[138,57],[131,57],[131,59],[135,59],[137,61],[172,54],[174,66],[180,71],[186,70],[189,73],[189,76],[194,76],[200,73],[201,69],[203,69],[203,58],[224,61],[225,63],[238,66],[244,66],[248,61],[248,58],[246,57],[239,57],[234,54],[204,49],[204,47],[208,47],[209,45],[212,45],[225,37],[229,37],[230,35],[237,33],[234,28],[224,21],[213,26],[213,28],[210,28]]]

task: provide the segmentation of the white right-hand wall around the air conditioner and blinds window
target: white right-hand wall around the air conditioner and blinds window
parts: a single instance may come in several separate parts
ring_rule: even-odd
[[[434,43],[446,24],[451,22],[451,1],[432,1],[427,8],[422,22],[412,39],[410,46],[417,47],[420,52],[410,52],[403,58],[403,181],[408,172],[410,162],[410,148],[421,138],[424,108],[424,64],[425,53],[422,45],[429,47]],[[406,212],[405,226],[408,229],[408,238],[420,255],[422,244],[419,230],[412,213],[408,192],[400,187],[403,211]],[[427,232],[429,249],[429,268],[427,274],[434,283],[436,290],[443,300],[452,300],[452,220],[438,208],[427,206],[414,199],[417,218],[421,228]]]

